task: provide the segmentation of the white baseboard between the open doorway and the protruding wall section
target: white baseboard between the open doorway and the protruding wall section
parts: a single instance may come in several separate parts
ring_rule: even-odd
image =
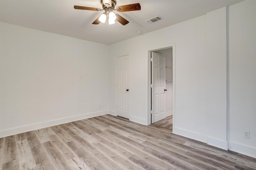
[[[173,128],[172,133],[177,134],[177,135],[181,135],[181,136],[184,136],[184,137],[188,137],[190,139],[194,139],[196,141],[200,141],[200,142],[203,142],[203,143],[207,142],[207,136],[206,135],[195,133],[195,132],[192,132],[192,131],[187,131],[187,130],[180,129],[180,128],[177,128],[177,127]]]

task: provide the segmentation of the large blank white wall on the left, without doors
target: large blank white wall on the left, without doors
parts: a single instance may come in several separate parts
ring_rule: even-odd
[[[108,113],[108,68],[107,45],[1,22],[0,137]]]

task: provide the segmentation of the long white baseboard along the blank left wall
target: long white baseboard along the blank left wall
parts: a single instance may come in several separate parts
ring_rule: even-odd
[[[22,127],[16,127],[13,129],[7,129],[7,130],[0,131],[0,138],[6,137],[6,136],[11,136],[11,135],[16,135],[16,134],[24,133],[24,132],[28,132],[28,131],[33,131],[33,130],[41,129],[41,128],[45,128],[45,127],[50,127],[50,126],[54,126],[54,125],[60,125],[60,124],[68,123],[68,122],[72,122],[72,121],[88,119],[90,117],[106,115],[106,114],[108,114],[108,111],[99,111],[99,112],[94,112],[94,113],[87,113],[84,115],[66,117],[63,119],[56,119],[56,120],[52,120],[52,121],[36,123],[36,124],[32,124],[32,125],[26,125],[26,126],[22,126]]]

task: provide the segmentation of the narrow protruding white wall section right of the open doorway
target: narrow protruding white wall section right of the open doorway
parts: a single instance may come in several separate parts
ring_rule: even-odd
[[[226,7],[209,12],[206,16],[207,143],[228,150]]]

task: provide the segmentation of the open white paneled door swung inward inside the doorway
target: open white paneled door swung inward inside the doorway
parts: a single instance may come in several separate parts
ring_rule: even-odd
[[[165,118],[165,56],[151,52],[152,57],[152,123]]]

